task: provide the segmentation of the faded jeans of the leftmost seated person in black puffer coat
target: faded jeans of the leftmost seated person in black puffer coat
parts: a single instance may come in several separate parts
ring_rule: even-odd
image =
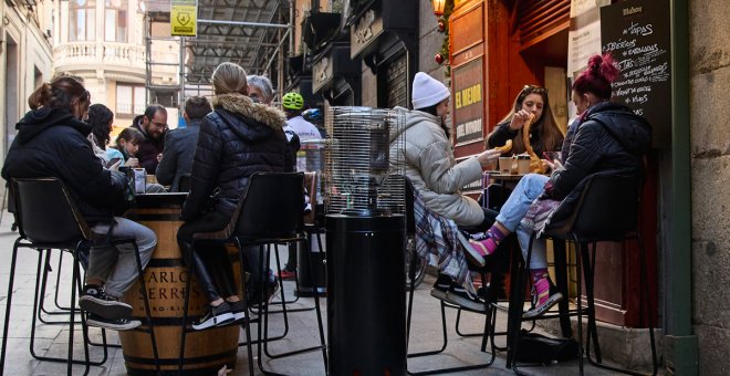
[[[134,238],[139,250],[142,268],[147,267],[152,253],[157,244],[157,237],[153,230],[126,218],[114,217],[114,238]],[[108,231],[107,223],[96,223],[91,228],[92,232],[105,236]],[[132,244],[117,247],[92,247],[91,260],[86,279],[96,278],[106,281],[104,292],[113,297],[121,297],[137,280],[137,260],[134,255]]]

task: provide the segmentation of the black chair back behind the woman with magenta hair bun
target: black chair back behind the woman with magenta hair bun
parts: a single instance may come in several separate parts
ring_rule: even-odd
[[[620,240],[636,231],[639,177],[593,175],[587,179],[573,212],[571,232],[585,240]]]

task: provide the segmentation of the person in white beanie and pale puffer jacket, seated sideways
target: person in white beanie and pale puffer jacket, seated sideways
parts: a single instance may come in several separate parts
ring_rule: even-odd
[[[497,212],[483,209],[474,199],[461,194],[466,185],[481,180],[482,167],[493,165],[500,153],[486,150],[457,164],[446,117],[451,93],[440,81],[424,72],[416,73],[413,86],[414,109],[396,107],[406,113],[406,125],[392,135],[392,145],[403,143],[405,149],[390,149],[390,160],[405,160],[406,176],[414,185],[424,206],[448,218],[459,227],[487,230]],[[460,282],[463,282],[463,271]],[[431,295],[471,309],[482,310],[483,301],[468,294],[455,273],[439,273]],[[470,279],[469,279],[470,281]],[[473,289],[473,288],[471,288]]]

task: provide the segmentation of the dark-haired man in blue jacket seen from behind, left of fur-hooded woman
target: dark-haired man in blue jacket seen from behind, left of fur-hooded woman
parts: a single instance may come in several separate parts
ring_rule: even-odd
[[[185,128],[173,129],[165,136],[165,150],[163,159],[157,165],[157,182],[169,185],[171,192],[188,191],[189,187],[180,189],[180,177],[190,176],[192,169],[192,155],[198,144],[200,122],[212,108],[204,96],[191,96],[185,101],[182,117]]]

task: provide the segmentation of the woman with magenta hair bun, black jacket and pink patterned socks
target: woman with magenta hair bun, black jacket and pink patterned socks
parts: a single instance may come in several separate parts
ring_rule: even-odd
[[[584,178],[595,173],[638,176],[643,173],[643,155],[651,140],[651,127],[623,104],[611,103],[611,83],[618,69],[609,54],[594,55],[587,69],[573,83],[572,97],[580,114],[571,143],[563,146],[564,166],[550,163],[550,177],[529,174],[514,188],[502,206],[497,221],[484,233],[474,234],[465,247],[471,246],[483,257],[494,253],[509,233],[517,231],[522,254],[526,257],[533,231],[540,231],[551,218],[553,209],[564,201],[571,207],[580,197]],[[563,299],[548,275],[545,241],[535,241],[530,260],[538,304],[524,317],[536,317]]]

